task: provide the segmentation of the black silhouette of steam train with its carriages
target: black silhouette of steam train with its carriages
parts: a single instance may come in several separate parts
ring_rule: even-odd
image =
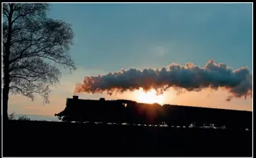
[[[66,107],[55,114],[62,122],[101,122],[120,125],[225,126],[232,130],[252,130],[252,112],[182,105],[139,103],[132,100],[81,100],[67,98]]]

